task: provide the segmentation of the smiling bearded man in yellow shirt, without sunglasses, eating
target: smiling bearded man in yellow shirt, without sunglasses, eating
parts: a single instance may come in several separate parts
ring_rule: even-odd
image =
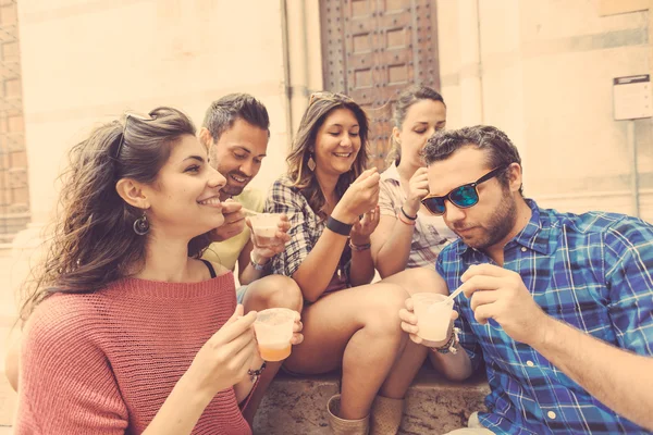
[[[263,211],[264,197],[258,189],[248,187],[258,174],[268,150],[270,121],[266,107],[247,94],[232,94],[213,101],[199,132],[207,147],[209,163],[226,178],[220,190],[223,202],[224,225],[212,233],[213,244],[204,258],[234,270],[238,264],[237,301],[245,312],[267,308],[289,308],[301,311],[303,297],[297,284],[289,277],[270,274],[273,250],[257,248],[245,224],[245,211]],[[285,222],[287,232],[289,225]],[[279,250],[289,240],[283,234]],[[281,366],[280,362],[267,364],[243,411],[251,425],[256,410]]]

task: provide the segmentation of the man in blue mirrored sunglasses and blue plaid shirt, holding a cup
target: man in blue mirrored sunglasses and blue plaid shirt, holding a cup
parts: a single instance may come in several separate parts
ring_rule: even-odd
[[[653,226],[525,199],[517,148],[494,127],[438,133],[424,158],[422,203],[460,237],[436,270],[464,291],[432,361],[455,380],[484,361],[491,387],[488,411],[452,434],[653,431]]]

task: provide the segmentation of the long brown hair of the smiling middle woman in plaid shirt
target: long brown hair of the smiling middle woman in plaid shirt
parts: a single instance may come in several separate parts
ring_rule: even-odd
[[[304,116],[301,116],[291,153],[286,158],[291,186],[301,191],[310,208],[322,219],[328,217],[324,212],[326,199],[318,184],[318,178],[308,167],[308,160],[311,158],[311,148],[315,148],[318,130],[324,124],[326,117],[336,109],[348,109],[354,113],[354,116],[358,121],[360,137],[360,150],[358,151],[358,156],[356,156],[356,161],[347,173],[338,177],[335,185],[335,195],[340,200],[349,185],[366,170],[369,156],[368,116],[354,100],[340,94],[313,94],[306,112],[304,112]]]

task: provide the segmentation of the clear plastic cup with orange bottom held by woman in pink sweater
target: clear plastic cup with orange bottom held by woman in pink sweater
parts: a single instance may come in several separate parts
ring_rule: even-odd
[[[287,308],[270,308],[258,312],[254,331],[263,360],[281,361],[288,358],[296,316],[297,312]]]

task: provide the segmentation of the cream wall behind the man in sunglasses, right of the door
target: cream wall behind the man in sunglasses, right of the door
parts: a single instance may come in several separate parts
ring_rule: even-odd
[[[439,1],[442,92],[448,126],[482,122],[508,134],[523,160],[526,194],[542,206],[632,214],[631,148],[627,123],[613,120],[612,80],[651,74],[651,16],[600,16],[599,5]],[[480,95],[470,91],[473,78]],[[470,120],[479,104],[482,116]],[[641,216],[653,222],[653,123],[634,124]]]

